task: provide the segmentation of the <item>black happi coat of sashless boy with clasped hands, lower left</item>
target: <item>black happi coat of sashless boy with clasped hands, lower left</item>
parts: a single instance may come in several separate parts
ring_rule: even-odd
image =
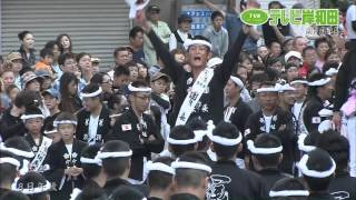
[[[66,178],[61,190],[59,190],[62,177],[65,176],[65,169],[73,166],[81,166],[81,151],[86,146],[87,143],[75,139],[71,157],[62,140],[49,147],[46,163],[49,164],[50,170],[46,171],[44,176],[47,180],[52,183],[52,190],[55,190],[50,192],[51,200],[69,199],[73,188],[81,188],[83,178],[78,176],[76,179],[70,180]]]

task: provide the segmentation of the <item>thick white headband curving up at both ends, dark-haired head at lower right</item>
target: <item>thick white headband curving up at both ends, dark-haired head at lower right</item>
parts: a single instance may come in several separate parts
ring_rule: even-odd
[[[329,170],[326,171],[316,171],[316,170],[310,170],[307,167],[309,156],[304,154],[300,159],[300,161],[297,163],[297,167],[300,169],[301,173],[308,177],[314,177],[314,178],[326,178],[332,176],[335,172],[336,169],[336,163],[333,158],[330,158],[333,166]]]

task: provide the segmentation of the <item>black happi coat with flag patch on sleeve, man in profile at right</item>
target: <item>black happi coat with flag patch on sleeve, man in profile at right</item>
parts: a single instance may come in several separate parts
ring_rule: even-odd
[[[316,96],[312,97],[307,102],[303,112],[303,122],[308,132],[317,131],[323,119],[319,111],[324,109],[323,100]]]

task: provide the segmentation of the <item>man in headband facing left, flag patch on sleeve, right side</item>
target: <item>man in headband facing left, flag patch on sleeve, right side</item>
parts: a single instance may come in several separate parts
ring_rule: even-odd
[[[325,108],[325,102],[333,97],[333,83],[330,78],[316,73],[308,82],[310,98],[303,111],[303,123],[307,132],[318,130],[322,123],[319,111]]]

